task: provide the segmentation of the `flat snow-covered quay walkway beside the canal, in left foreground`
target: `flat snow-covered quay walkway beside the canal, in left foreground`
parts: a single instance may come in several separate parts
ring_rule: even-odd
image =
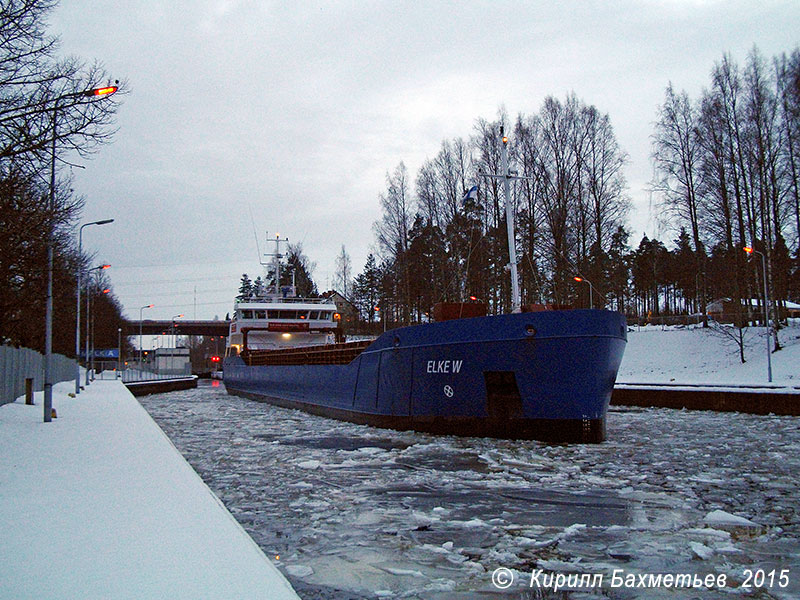
[[[0,596],[297,595],[117,381],[0,406]]]

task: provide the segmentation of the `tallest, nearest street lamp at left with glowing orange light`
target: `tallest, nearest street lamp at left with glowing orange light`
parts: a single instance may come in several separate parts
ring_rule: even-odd
[[[93,88],[80,92],[63,94],[53,100],[53,141],[50,161],[50,214],[56,211],[56,141],[58,122],[58,103],[67,98],[104,98],[117,91],[117,86]],[[47,296],[44,316],[44,422],[53,420],[53,254],[55,251],[55,227],[51,223],[47,234]],[[76,357],[77,360],[77,357]]]

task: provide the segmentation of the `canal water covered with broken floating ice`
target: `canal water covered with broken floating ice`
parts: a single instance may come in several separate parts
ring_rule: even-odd
[[[304,600],[800,597],[796,417],[612,408],[607,442],[552,445],[342,423],[220,382],[139,400]],[[585,577],[553,593],[556,574]]]

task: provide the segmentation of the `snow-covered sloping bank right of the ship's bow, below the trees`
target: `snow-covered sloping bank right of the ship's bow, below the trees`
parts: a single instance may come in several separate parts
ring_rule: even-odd
[[[773,352],[772,374],[777,384],[800,385],[800,319],[790,319]],[[737,344],[719,326],[630,327],[628,345],[617,376],[618,383],[767,383],[764,329],[745,330],[745,360]]]

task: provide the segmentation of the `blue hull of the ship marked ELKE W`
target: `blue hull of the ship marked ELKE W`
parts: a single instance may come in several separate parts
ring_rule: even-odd
[[[384,333],[346,365],[224,365],[229,393],[436,434],[599,442],[627,340],[601,310],[457,319]]]

